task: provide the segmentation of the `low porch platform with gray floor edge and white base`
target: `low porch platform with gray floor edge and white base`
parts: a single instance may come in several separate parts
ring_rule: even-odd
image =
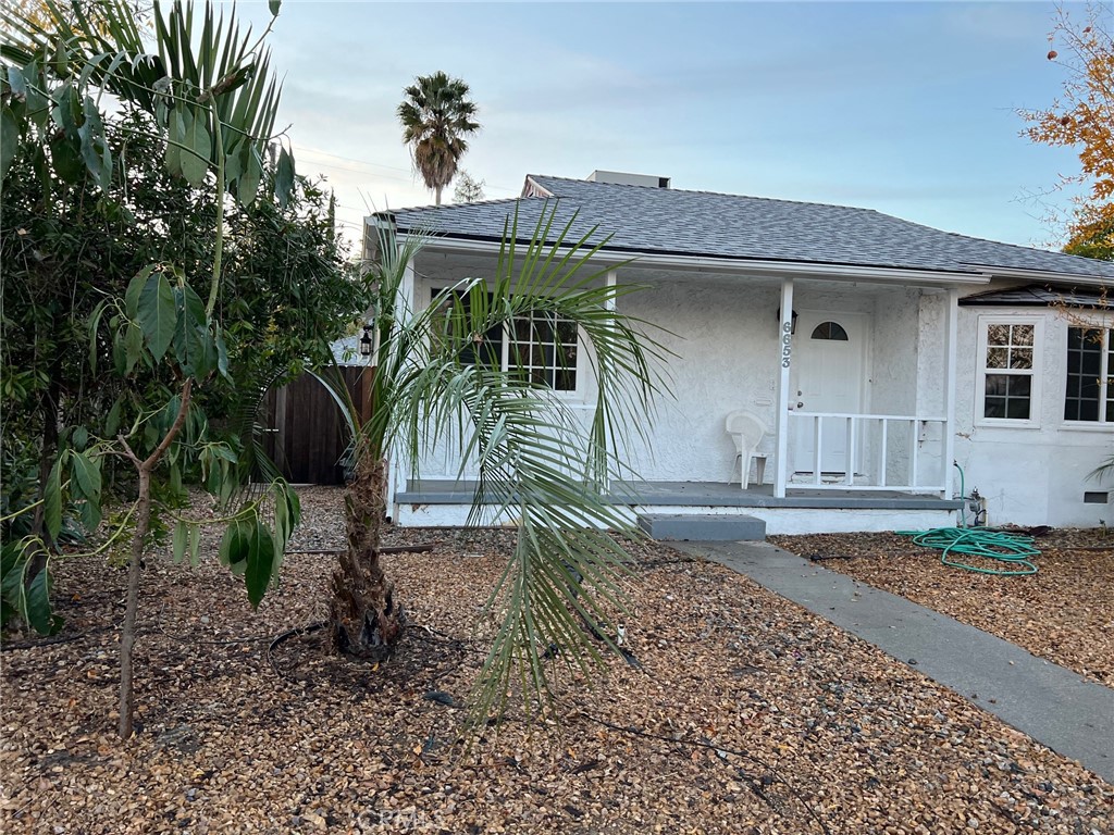
[[[475,490],[473,481],[410,480],[395,497],[393,518],[399,524],[408,527],[462,525],[468,518]],[[711,481],[615,482],[607,499],[623,509],[628,521],[643,523],[644,528],[644,519],[657,517],[685,517],[704,522],[714,522],[712,518],[719,518],[726,524],[731,524],[732,518],[749,518],[761,522],[769,534],[949,527],[956,523],[956,511],[961,505],[959,500],[938,495],[882,490],[863,492],[802,488],[778,497],[772,484],[752,484],[742,490],[739,484]],[[502,524],[509,519],[490,518],[483,521]],[[715,528],[714,524],[702,527],[707,530]],[[742,538],[730,536],[729,528],[724,530],[729,536],[721,536],[720,539]]]

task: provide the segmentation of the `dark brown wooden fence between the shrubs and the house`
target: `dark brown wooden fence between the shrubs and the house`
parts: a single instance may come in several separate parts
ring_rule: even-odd
[[[371,409],[372,369],[341,369],[352,401],[364,420]],[[292,484],[343,484],[341,458],[351,433],[340,406],[325,387],[310,374],[267,392],[266,451],[283,478]]]

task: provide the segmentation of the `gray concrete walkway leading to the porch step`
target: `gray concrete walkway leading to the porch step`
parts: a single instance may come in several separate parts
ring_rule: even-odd
[[[1114,784],[1114,690],[768,542],[671,542],[873,644]]]

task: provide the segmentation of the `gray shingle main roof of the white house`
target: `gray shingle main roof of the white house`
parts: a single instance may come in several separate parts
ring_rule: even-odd
[[[873,209],[536,175],[527,177],[526,190],[559,198],[555,227],[576,214],[574,233],[598,226],[600,235],[613,236],[606,248],[626,253],[947,272],[998,267],[1114,278],[1108,262],[941,232]],[[547,202],[530,196],[517,203],[519,237],[528,238]],[[498,240],[515,205],[512,199],[489,200],[385,214],[400,230]]]

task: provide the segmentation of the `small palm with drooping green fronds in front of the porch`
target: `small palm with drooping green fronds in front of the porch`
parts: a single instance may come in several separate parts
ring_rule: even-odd
[[[644,431],[651,399],[665,387],[665,351],[645,335],[649,326],[615,311],[633,287],[609,285],[590,263],[606,239],[588,244],[594,229],[570,239],[571,220],[550,234],[555,214],[544,209],[524,244],[516,212],[494,275],[460,282],[424,311],[410,310],[403,294],[420,242],[399,246],[381,233],[369,276],[379,314],[369,372],[373,410],[359,425],[359,410],[351,401],[345,409],[358,463],[345,498],[348,551],[333,576],[331,620],[341,651],[384,658],[405,623],[379,560],[389,451],[417,461],[429,439],[455,439],[457,451],[478,462],[471,521],[480,521],[485,503],[490,512],[490,502],[496,514],[515,520],[515,551],[489,600],[501,627],[473,704],[485,718],[512,687],[545,697],[546,658],[557,648],[566,664],[586,669],[599,660],[593,639],[606,644],[615,635],[627,557],[608,529],[634,532],[603,493],[622,466],[615,450]],[[520,333],[524,323],[547,317],[575,325],[588,348],[598,395],[586,431],[512,360],[506,369],[476,361],[486,334]],[[329,387],[346,400],[343,384]]]

